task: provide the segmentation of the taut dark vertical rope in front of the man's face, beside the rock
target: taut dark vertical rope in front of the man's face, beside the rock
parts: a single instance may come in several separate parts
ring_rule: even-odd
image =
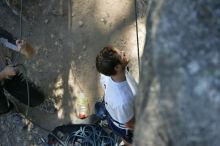
[[[139,78],[141,75],[141,62],[140,62],[140,48],[139,48],[139,35],[138,35],[138,12],[137,12],[137,0],[134,0],[134,12],[135,12],[135,26],[136,26],[136,37],[137,37],[137,54],[138,54],[138,71],[139,71]]]

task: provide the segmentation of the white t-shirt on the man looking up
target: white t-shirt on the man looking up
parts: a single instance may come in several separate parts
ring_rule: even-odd
[[[126,71],[126,81],[115,82],[111,77],[101,74],[100,82],[105,90],[107,111],[114,120],[127,123],[134,117],[134,97],[137,91],[134,78]]]

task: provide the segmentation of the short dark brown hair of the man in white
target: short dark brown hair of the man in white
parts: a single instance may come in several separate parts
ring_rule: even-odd
[[[117,64],[120,64],[120,58],[111,46],[104,47],[96,56],[96,68],[106,76],[116,74],[115,66]]]

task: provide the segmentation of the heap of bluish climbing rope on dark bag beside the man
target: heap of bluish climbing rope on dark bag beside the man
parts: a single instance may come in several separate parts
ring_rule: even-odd
[[[53,132],[49,136],[52,136],[62,146],[117,146],[119,143],[118,136],[113,133],[108,134],[100,125],[88,124],[74,126],[80,126],[79,130],[69,133],[68,136],[62,135],[62,131],[57,132],[62,136],[57,136],[59,134]]]

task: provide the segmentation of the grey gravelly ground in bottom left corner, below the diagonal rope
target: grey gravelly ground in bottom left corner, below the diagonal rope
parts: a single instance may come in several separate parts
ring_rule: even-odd
[[[43,146],[48,133],[17,113],[2,115],[0,129],[0,146]]]

